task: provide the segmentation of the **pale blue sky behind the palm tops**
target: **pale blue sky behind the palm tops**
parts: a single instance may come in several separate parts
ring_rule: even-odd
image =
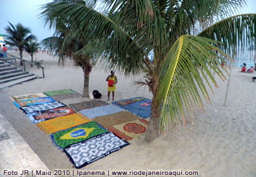
[[[4,28],[8,22],[15,25],[21,23],[32,30],[32,34],[42,40],[52,36],[53,30],[44,27],[44,23],[38,20],[39,7],[50,0],[4,0],[1,1],[0,10],[0,34],[5,34]],[[193,1],[193,0],[191,0]],[[243,13],[256,13],[256,0],[248,0]]]

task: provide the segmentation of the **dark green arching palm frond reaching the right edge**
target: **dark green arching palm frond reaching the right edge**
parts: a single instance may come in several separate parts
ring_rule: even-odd
[[[198,36],[223,42],[220,46],[229,55],[236,55],[239,49],[246,49],[256,44],[256,13],[228,17]]]

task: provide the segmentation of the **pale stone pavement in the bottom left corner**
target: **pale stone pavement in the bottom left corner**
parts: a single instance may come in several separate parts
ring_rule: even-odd
[[[10,175],[6,174],[7,171],[4,175],[4,170],[8,170]],[[20,134],[0,114],[0,176],[23,176],[20,175],[22,170],[28,170],[30,176],[32,170],[49,171]],[[18,175],[11,174],[12,171],[18,172]]]

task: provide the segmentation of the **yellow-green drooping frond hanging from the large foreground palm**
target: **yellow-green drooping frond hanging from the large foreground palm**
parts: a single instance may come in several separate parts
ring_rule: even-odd
[[[193,112],[195,106],[203,108],[200,92],[210,101],[205,84],[212,88],[212,81],[217,86],[212,72],[225,79],[220,61],[221,55],[227,56],[217,44],[220,43],[207,38],[181,36],[170,48],[158,78],[160,84],[153,104],[160,106],[162,130],[180,116],[185,123],[186,110]]]

